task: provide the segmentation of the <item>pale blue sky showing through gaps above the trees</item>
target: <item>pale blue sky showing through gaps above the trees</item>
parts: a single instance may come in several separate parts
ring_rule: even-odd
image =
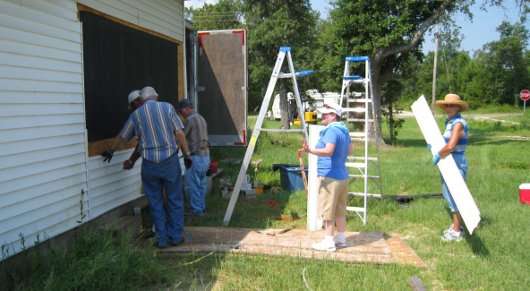
[[[204,3],[215,3],[217,0],[195,0],[185,1],[186,7],[193,6],[195,8],[201,7]],[[328,16],[330,8],[326,0],[310,0],[311,7],[320,12],[322,18]],[[481,1],[477,1],[481,2]],[[489,7],[487,12],[479,9],[480,5],[475,4],[472,7],[473,22],[462,14],[456,15],[456,22],[462,27],[463,40],[461,49],[468,51],[471,55],[488,42],[499,39],[499,33],[496,31],[497,26],[503,20],[510,23],[515,23],[519,17],[517,15],[518,8],[515,6],[515,1],[507,0],[505,8]],[[525,23],[526,28],[530,30],[530,19]],[[431,34],[427,34],[423,44],[423,52],[434,50],[434,39]]]

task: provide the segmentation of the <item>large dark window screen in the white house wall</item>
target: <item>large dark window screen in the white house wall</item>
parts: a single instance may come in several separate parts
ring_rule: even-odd
[[[152,86],[178,102],[178,44],[90,12],[81,12],[88,141],[115,137],[132,90]]]

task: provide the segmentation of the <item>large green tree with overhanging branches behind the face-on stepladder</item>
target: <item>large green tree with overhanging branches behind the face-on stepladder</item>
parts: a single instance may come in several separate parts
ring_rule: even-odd
[[[412,58],[420,58],[423,34],[442,17],[466,10],[468,1],[456,0],[385,0],[385,1],[330,1],[330,27],[323,60],[325,74],[340,85],[344,57],[371,57],[372,87],[377,125],[383,84],[406,74]],[[330,86],[332,82],[325,82]],[[395,86],[388,86],[395,88]],[[326,89],[337,89],[326,88]],[[395,92],[393,92],[395,94]],[[392,98],[388,98],[392,100]],[[378,131],[381,133],[381,130]]]

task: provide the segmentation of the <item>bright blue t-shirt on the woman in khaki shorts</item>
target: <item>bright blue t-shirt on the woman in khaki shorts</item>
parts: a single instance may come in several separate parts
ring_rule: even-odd
[[[318,157],[318,176],[330,177],[337,180],[348,178],[346,158],[350,150],[350,135],[342,122],[329,124],[320,132],[320,139],[315,148],[323,149],[327,143],[335,145],[335,151],[330,157]]]

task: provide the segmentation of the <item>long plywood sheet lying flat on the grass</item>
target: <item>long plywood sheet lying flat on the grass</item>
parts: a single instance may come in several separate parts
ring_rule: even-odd
[[[246,228],[187,227],[186,242],[165,252],[234,252],[295,256],[352,263],[406,264],[426,267],[425,263],[397,234],[346,232],[348,246],[336,252],[315,251],[311,245],[323,232],[301,229],[254,230]]]

